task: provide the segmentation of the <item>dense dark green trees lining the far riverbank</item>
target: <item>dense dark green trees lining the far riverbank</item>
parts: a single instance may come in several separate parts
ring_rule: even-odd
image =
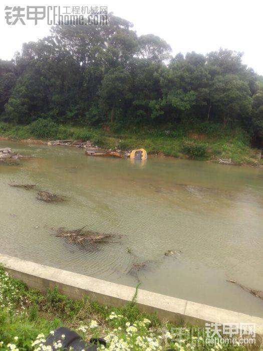
[[[263,77],[220,49],[170,56],[170,46],[113,15],[107,26],[63,26],[0,61],[2,121],[165,126],[212,121],[260,144]]]

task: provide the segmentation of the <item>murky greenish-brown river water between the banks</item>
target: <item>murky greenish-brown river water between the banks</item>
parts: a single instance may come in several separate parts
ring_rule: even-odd
[[[97,158],[83,149],[0,141],[21,154],[0,163],[0,252],[49,266],[263,317],[263,169],[151,156]],[[67,201],[45,203],[37,184]],[[59,227],[117,233],[97,250]],[[165,256],[167,250],[180,255]],[[134,263],[147,262],[131,274]]]

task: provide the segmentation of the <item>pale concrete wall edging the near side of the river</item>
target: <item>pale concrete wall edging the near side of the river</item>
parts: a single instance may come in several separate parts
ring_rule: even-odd
[[[59,291],[72,299],[90,296],[101,304],[119,307],[131,301],[135,288],[111,283],[86,275],[21,260],[0,254],[0,262],[14,278],[23,280],[29,287],[46,291],[58,286]],[[139,309],[147,313],[157,313],[160,319],[168,319],[178,324],[190,323],[204,326],[205,322],[256,323],[256,333],[263,334],[263,318],[203,305],[139,289],[137,297]]]

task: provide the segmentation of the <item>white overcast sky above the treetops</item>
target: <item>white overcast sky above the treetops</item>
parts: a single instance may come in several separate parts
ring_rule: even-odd
[[[101,2],[100,2],[101,1]],[[138,35],[153,33],[163,38],[173,54],[195,51],[206,54],[220,47],[244,52],[243,62],[263,75],[262,16],[263,0],[99,0],[73,2],[58,0],[16,0],[1,6],[0,58],[12,59],[22,44],[48,35],[46,20],[27,21],[8,26],[5,5],[8,6],[107,6],[108,12],[134,24]]]

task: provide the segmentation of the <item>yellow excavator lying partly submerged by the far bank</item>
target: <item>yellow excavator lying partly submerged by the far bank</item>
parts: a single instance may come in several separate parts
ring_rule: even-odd
[[[89,148],[86,148],[85,154],[87,156],[119,157],[119,158],[130,158],[135,160],[147,159],[147,152],[145,149],[135,149],[132,151],[118,152],[118,151],[99,149],[96,147],[89,147]]]

